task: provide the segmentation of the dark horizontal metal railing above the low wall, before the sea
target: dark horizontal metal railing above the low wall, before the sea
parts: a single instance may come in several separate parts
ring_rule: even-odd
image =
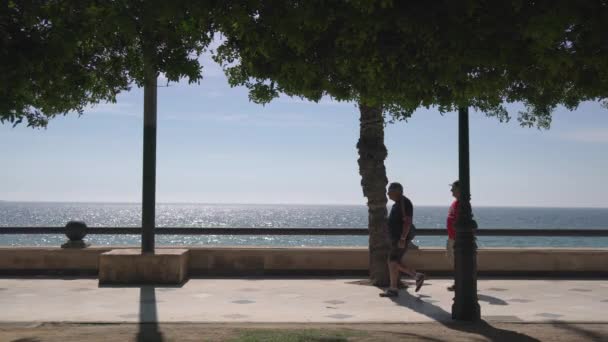
[[[0,227],[0,235],[7,234],[65,234],[64,227]],[[87,234],[140,235],[138,227],[88,227]],[[155,235],[369,235],[367,228],[187,228],[159,227]],[[417,236],[445,236],[445,228],[418,228]],[[477,236],[572,236],[608,237],[608,228],[597,229],[478,229]]]

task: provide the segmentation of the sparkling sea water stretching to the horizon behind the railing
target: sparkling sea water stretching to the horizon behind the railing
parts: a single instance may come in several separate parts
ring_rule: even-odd
[[[417,206],[419,228],[445,228],[447,204]],[[479,229],[608,229],[608,208],[477,207]],[[0,202],[1,227],[57,226],[83,220],[90,227],[137,227],[141,206],[128,203]],[[367,208],[357,205],[158,204],[157,227],[366,228]],[[63,235],[3,235],[0,246],[59,246]],[[139,245],[137,235],[89,235],[92,245]],[[445,237],[418,236],[420,246],[444,246]],[[366,236],[158,235],[157,245],[367,246]],[[480,247],[608,247],[605,237],[486,237]]]

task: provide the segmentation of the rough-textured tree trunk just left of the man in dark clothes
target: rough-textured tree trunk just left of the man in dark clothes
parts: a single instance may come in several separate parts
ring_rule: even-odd
[[[384,117],[380,106],[359,103],[360,137],[359,174],[363,195],[367,198],[369,229],[369,276],[376,286],[387,286],[388,234],[386,228],[386,169],[387,156],[384,146]]]

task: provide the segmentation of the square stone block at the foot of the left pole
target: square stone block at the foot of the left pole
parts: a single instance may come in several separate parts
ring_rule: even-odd
[[[182,284],[188,276],[187,249],[114,249],[99,255],[99,284]]]

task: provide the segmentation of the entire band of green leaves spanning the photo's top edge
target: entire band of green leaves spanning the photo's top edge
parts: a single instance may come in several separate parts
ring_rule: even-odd
[[[608,4],[595,1],[8,1],[0,13],[0,121],[49,118],[113,101],[144,82],[199,82],[214,56],[232,86],[382,105],[394,120],[459,106],[548,127],[556,106],[608,94]]]

